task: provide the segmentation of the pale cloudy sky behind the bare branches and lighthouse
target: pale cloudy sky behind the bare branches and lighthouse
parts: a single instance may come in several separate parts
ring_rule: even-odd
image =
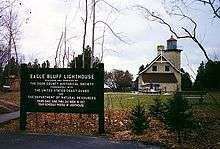
[[[163,0],[164,1],[164,0]],[[49,60],[54,64],[56,48],[64,31],[67,29],[67,46],[70,57],[82,53],[83,18],[85,16],[84,1],[80,0],[20,0],[19,15],[21,37],[19,51],[25,56],[25,61],[40,63]],[[116,9],[112,9],[104,2],[97,3],[96,20],[106,21],[126,43],[115,38],[108,29],[105,34],[104,57],[105,70],[129,70],[134,77],[139,67],[150,63],[157,54],[157,45],[166,45],[166,40],[172,35],[168,28],[157,22],[152,22],[134,9],[135,5],[157,11],[166,20],[178,27],[184,25],[190,29],[188,22],[175,19],[166,14],[170,8],[164,7],[160,0],[106,0]],[[166,5],[168,5],[166,3]],[[169,5],[168,5],[169,6]],[[191,5],[193,7],[193,5]],[[91,8],[91,5],[89,5]],[[213,19],[207,6],[195,5],[196,9],[186,10],[198,23],[198,39],[208,51],[208,55],[215,60],[220,57],[220,20]],[[91,13],[89,13],[91,18]],[[86,44],[91,45],[91,19],[88,23]],[[104,25],[98,23],[95,37],[102,36]],[[177,28],[178,29],[178,28]],[[101,55],[102,40],[95,44],[95,55]],[[197,68],[205,57],[198,46],[189,39],[178,40],[178,48],[182,49],[181,67],[195,78]]]

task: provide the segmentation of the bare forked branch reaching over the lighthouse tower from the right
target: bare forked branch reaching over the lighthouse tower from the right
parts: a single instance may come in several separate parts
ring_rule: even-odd
[[[183,11],[181,10],[180,7],[177,7],[177,11],[175,12],[167,12],[170,16],[174,16],[174,17],[178,17],[180,18],[180,20],[185,20],[188,21],[192,27],[192,29],[188,28],[188,27],[184,27],[184,26],[180,26],[178,29],[182,30],[179,31],[178,29],[175,29],[174,26],[172,26],[168,21],[166,21],[166,19],[161,16],[159,13],[154,12],[154,11],[150,11],[148,8],[141,6],[141,5],[136,5],[135,8],[137,8],[138,10],[140,10],[144,17],[147,20],[150,21],[156,21],[162,25],[165,25],[169,28],[169,31],[174,34],[176,36],[177,39],[191,39],[193,42],[195,42],[197,44],[197,46],[201,49],[201,51],[203,52],[205,58],[210,61],[210,58],[207,54],[206,49],[204,48],[204,46],[202,45],[201,41],[198,39],[197,37],[197,22],[190,16],[186,15],[183,13]]]

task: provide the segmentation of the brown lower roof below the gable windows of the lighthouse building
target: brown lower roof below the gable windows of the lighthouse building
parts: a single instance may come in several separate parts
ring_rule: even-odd
[[[144,83],[177,83],[173,73],[144,73],[142,79]]]

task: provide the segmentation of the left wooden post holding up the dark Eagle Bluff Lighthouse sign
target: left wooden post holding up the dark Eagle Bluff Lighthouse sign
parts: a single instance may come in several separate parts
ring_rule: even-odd
[[[26,64],[21,64],[21,84],[20,84],[20,130],[25,131],[26,130],[26,124],[27,124],[27,113],[26,113],[26,89],[25,89],[25,71],[27,69]]]

